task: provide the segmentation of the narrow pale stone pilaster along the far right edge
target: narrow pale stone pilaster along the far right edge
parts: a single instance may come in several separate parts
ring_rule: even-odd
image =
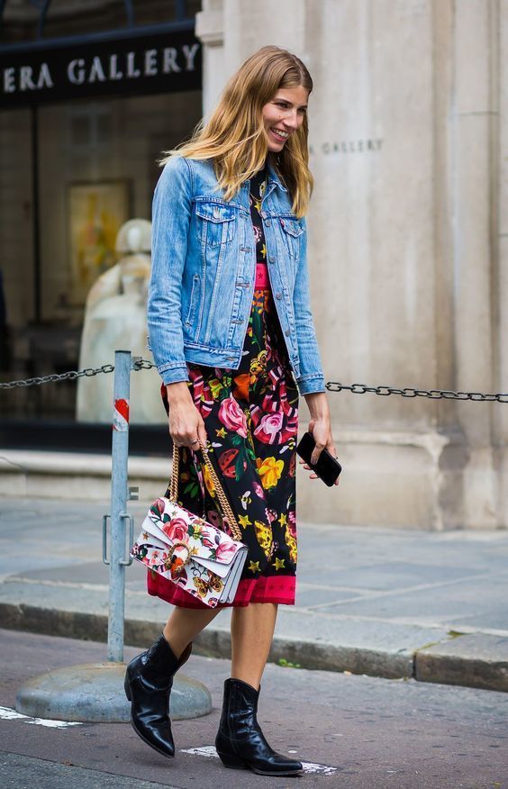
[[[497,266],[495,204],[497,195],[494,139],[498,125],[497,0],[455,4],[453,94],[450,103],[449,151],[452,204],[452,281],[454,367],[452,388],[492,391],[495,385],[493,295]],[[444,407],[444,406],[443,406]],[[496,512],[493,454],[493,416],[499,405],[458,403],[451,449],[457,463],[443,493],[456,487],[455,512],[447,521],[464,526],[492,527]],[[460,499],[458,499],[460,492]]]

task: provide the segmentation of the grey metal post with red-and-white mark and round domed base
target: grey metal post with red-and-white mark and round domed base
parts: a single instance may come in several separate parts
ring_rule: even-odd
[[[126,508],[129,499],[137,498],[137,488],[127,487],[129,396],[133,367],[130,350],[114,352],[111,513],[103,518],[103,561],[109,566],[108,662],[59,668],[23,683],[15,703],[17,712],[23,715],[88,722],[126,722],[130,718],[130,704],[123,691],[123,618],[125,567],[132,564],[132,558],[125,558],[125,554],[134,540],[134,521]],[[109,558],[108,520],[111,520]],[[130,523],[129,548],[126,545],[125,521]],[[211,712],[212,699],[204,685],[179,675],[175,686],[177,693],[171,702],[171,714],[175,720]]]

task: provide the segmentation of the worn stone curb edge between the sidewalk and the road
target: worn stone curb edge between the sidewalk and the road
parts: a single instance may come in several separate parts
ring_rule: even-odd
[[[41,635],[107,641],[104,614],[66,612],[24,603],[0,603],[2,626]],[[160,634],[159,622],[126,619],[124,642],[146,648]],[[231,658],[230,630],[208,627],[195,639],[195,653]],[[389,652],[319,640],[274,637],[268,660],[288,667],[415,679],[418,682],[463,685],[508,693],[508,638],[484,633],[458,634],[415,650]]]

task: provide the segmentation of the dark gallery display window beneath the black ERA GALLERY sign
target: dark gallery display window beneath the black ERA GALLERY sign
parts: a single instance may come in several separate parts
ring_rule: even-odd
[[[0,113],[0,147],[9,151],[0,166],[1,380],[78,369],[83,359],[85,366],[90,358],[112,363],[107,342],[101,356],[102,330],[88,338],[95,343],[93,353],[82,347],[93,286],[95,291],[102,288],[104,297],[102,312],[95,311],[96,326],[103,326],[105,336],[124,317],[122,338],[129,347],[132,313],[115,312],[117,297],[137,288],[136,309],[142,315],[146,294],[139,273],[134,276],[131,268],[125,275],[114,268],[122,258],[114,250],[116,235],[126,220],[150,220],[157,159],[162,150],[186,139],[200,117],[200,91]],[[32,159],[33,133],[37,162]],[[38,216],[32,194],[35,168]],[[111,402],[101,413],[110,421]],[[5,417],[72,422],[77,418],[77,382],[4,391],[0,418]],[[94,421],[93,409],[88,417]]]

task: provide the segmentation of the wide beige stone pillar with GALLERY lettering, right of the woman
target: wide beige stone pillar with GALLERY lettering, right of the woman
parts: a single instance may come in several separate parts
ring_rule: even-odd
[[[328,380],[433,386],[437,367],[430,2],[307,3],[309,217]],[[437,406],[331,394],[343,479],[322,520],[441,528]],[[301,480],[311,517],[316,483]],[[312,488],[312,490],[311,490]],[[320,492],[321,493],[321,492]]]

